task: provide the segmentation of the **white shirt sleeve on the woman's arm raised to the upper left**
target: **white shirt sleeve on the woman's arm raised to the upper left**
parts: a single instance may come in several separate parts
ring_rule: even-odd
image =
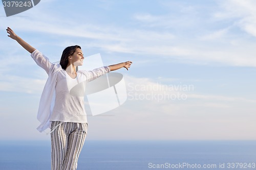
[[[38,50],[35,50],[33,53],[31,53],[31,57],[35,60],[36,64],[41,68],[44,68],[49,75],[50,68],[53,65],[49,59]]]

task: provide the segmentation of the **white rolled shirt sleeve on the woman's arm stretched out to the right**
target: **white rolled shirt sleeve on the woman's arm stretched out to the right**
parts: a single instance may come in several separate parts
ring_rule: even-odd
[[[98,77],[110,72],[110,67],[109,66],[103,66],[103,67],[99,67],[99,68],[95,68],[91,71],[87,71],[87,70],[79,70],[80,72],[82,72],[82,74],[84,74],[86,76],[86,79],[88,82],[97,79]]]

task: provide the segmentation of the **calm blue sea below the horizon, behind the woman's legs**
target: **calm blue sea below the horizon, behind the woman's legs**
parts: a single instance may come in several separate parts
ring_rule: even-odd
[[[256,141],[86,140],[77,169],[256,169]],[[0,169],[51,169],[50,141],[0,141]]]

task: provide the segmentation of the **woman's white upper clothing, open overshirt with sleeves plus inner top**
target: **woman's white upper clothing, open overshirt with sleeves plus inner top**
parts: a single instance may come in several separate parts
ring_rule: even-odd
[[[76,79],[72,79],[60,64],[51,63],[38,50],[35,50],[31,57],[37,65],[46,70],[49,76],[39,103],[37,119],[40,125],[37,130],[42,132],[50,128],[50,121],[53,120],[87,123],[83,105],[84,84],[110,72],[110,67],[104,66],[92,71],[78,70]],[[62,86],[63,84],[64,86]],[[52,102],[54,97],[55,101]],[[54,107],[52,107],[53,105]]]

